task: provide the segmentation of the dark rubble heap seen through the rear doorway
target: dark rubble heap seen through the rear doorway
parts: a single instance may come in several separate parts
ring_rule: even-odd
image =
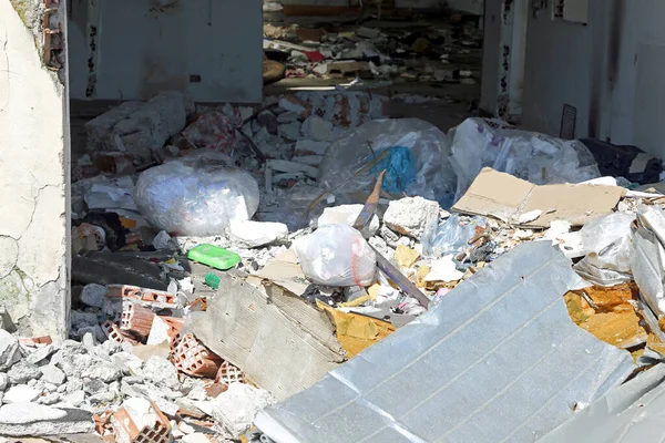
[[[332,80],[418,81],[439,84],[478,82],[479,72],[466,69],[482,45],[477,22],[450,27],[416,22],[411,27],[354,23],[315,27],[264,24],[264,51],[286,63],[286,78]]]

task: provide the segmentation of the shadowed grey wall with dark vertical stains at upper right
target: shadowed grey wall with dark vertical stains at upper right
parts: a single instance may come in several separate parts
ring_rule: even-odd
[[[586,12],[586,23],[553,19],[552,4],[530,13],[525,126],[557,135],[566,103],[577,110],[577,137],[664,157],[665,2],[589,0]]]

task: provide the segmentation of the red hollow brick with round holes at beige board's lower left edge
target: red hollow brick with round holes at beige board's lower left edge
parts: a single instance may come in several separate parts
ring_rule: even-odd
[[[191,377],[215,378],[223,361],[207,349],[193,333],[177,334],[171,342],[171,360]]]

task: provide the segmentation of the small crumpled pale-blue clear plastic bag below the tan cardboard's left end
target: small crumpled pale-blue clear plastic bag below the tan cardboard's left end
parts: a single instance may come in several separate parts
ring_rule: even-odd
[[[458,255],[469,249],[469,240],[478,235],[478,228],[484,230],[485,225],[484,217],[473,217],[462,226],[459,214],[452,214],[436,229],[422,235],[422,254],[426,257]]]

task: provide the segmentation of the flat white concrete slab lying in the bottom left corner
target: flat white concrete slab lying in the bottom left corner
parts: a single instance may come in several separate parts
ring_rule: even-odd
[[[0,408],[0,434],[39,436],[84,434],[94,431],[92,413],[78,409],[55,409],[35,403]]]

